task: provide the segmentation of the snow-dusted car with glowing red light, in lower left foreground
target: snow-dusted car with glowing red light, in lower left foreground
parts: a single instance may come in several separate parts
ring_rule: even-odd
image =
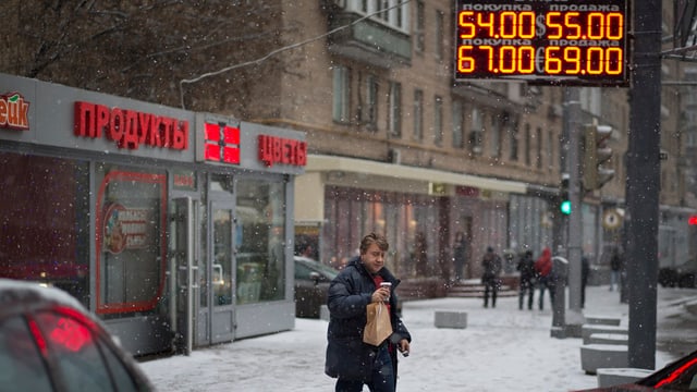
[[[151,391],[132,355],[68,293],[0,279],[0,391]]]

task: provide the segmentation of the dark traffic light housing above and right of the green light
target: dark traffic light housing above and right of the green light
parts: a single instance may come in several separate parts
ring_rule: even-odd
[[[582,173],[586,191],[599,189],[614,176],[614,170],[607,169],[603,163],[612,158],[612,149],[607,140],[612,127],[607,125],[586,125],[583,137]]]

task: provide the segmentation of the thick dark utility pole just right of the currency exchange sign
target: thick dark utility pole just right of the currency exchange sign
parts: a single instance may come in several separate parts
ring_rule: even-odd
[[[653,369],[660,201],[661,1],[634,1],[634,21],[624,254],[629,292],[628,365]]]

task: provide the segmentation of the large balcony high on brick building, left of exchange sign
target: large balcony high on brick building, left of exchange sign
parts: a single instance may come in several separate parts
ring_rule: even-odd
[[[412,39],[408,34],[360,14],[337,10],[330,15],[329,29],[350,25],[329,36],[329,51],[370,65],[391,69],[412,63]]]

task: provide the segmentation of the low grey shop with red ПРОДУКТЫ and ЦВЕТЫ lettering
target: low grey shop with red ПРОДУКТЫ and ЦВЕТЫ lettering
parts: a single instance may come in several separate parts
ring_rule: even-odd
[[[135,355],[295,322],[305,135],[0,74],[0,278],[58,286]]]

